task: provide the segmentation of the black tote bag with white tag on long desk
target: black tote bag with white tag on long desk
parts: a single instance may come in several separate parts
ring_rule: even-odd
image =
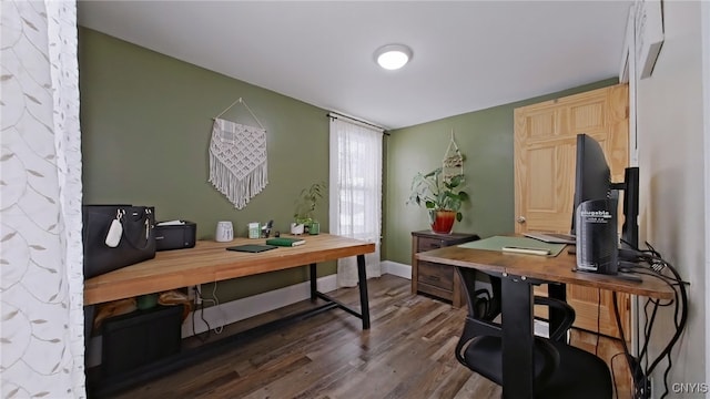
[[[83,205],[84,278],[154,258],[154,211],[152,206]],[[114,242],[106,244],[110,232]]]

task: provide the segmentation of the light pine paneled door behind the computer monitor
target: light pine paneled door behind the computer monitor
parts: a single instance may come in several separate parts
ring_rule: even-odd
[[[626,84],[515,110],[516,233],[570,232],[579,133],[601,144],[612,181],[623,181],[629,164],[628,117]],[[629,296],[618,299],[623,330],[630,335]],[[577,311],[575,327],[619,337],[611,293],[599,296],[597,289],[568,285],[567,301]]]

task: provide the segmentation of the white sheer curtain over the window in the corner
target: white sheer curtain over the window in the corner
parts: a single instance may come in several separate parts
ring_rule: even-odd
[[[383,131],[344,117],[331,117],[329,232],[375,243],[365,256],[367,278],[379,277]],[[357,285],[354,257],[338,260],[337,284]]]

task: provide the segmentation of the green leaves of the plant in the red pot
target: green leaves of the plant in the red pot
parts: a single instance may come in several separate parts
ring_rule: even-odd
[[[463,191],[464,175],[458,174],[444,180],[442,167],[429,173],[417,173],[412,180],[412,193],[407,204],[416,204],[427,209],[456,212],[456,221],[464,215],[462,205],[469,200],[468,193]]]

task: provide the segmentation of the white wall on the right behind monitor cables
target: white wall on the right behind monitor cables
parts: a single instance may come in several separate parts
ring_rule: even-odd
[[[652,75],[637,88],[641,239],[651,243],[691,283],[689,323],[672,352],[669,389],[674,382],[708,381],[703,117],[710,104],[703,105],[700,11],[698,1],[663,1],[663,47]],[[651,359],[674,330],[672,314],[663,311],[657,319]],[[653,371],[655,398],[663,393],[666,366],[663,361]],[[669,393],[676,397],[672,389]]]

